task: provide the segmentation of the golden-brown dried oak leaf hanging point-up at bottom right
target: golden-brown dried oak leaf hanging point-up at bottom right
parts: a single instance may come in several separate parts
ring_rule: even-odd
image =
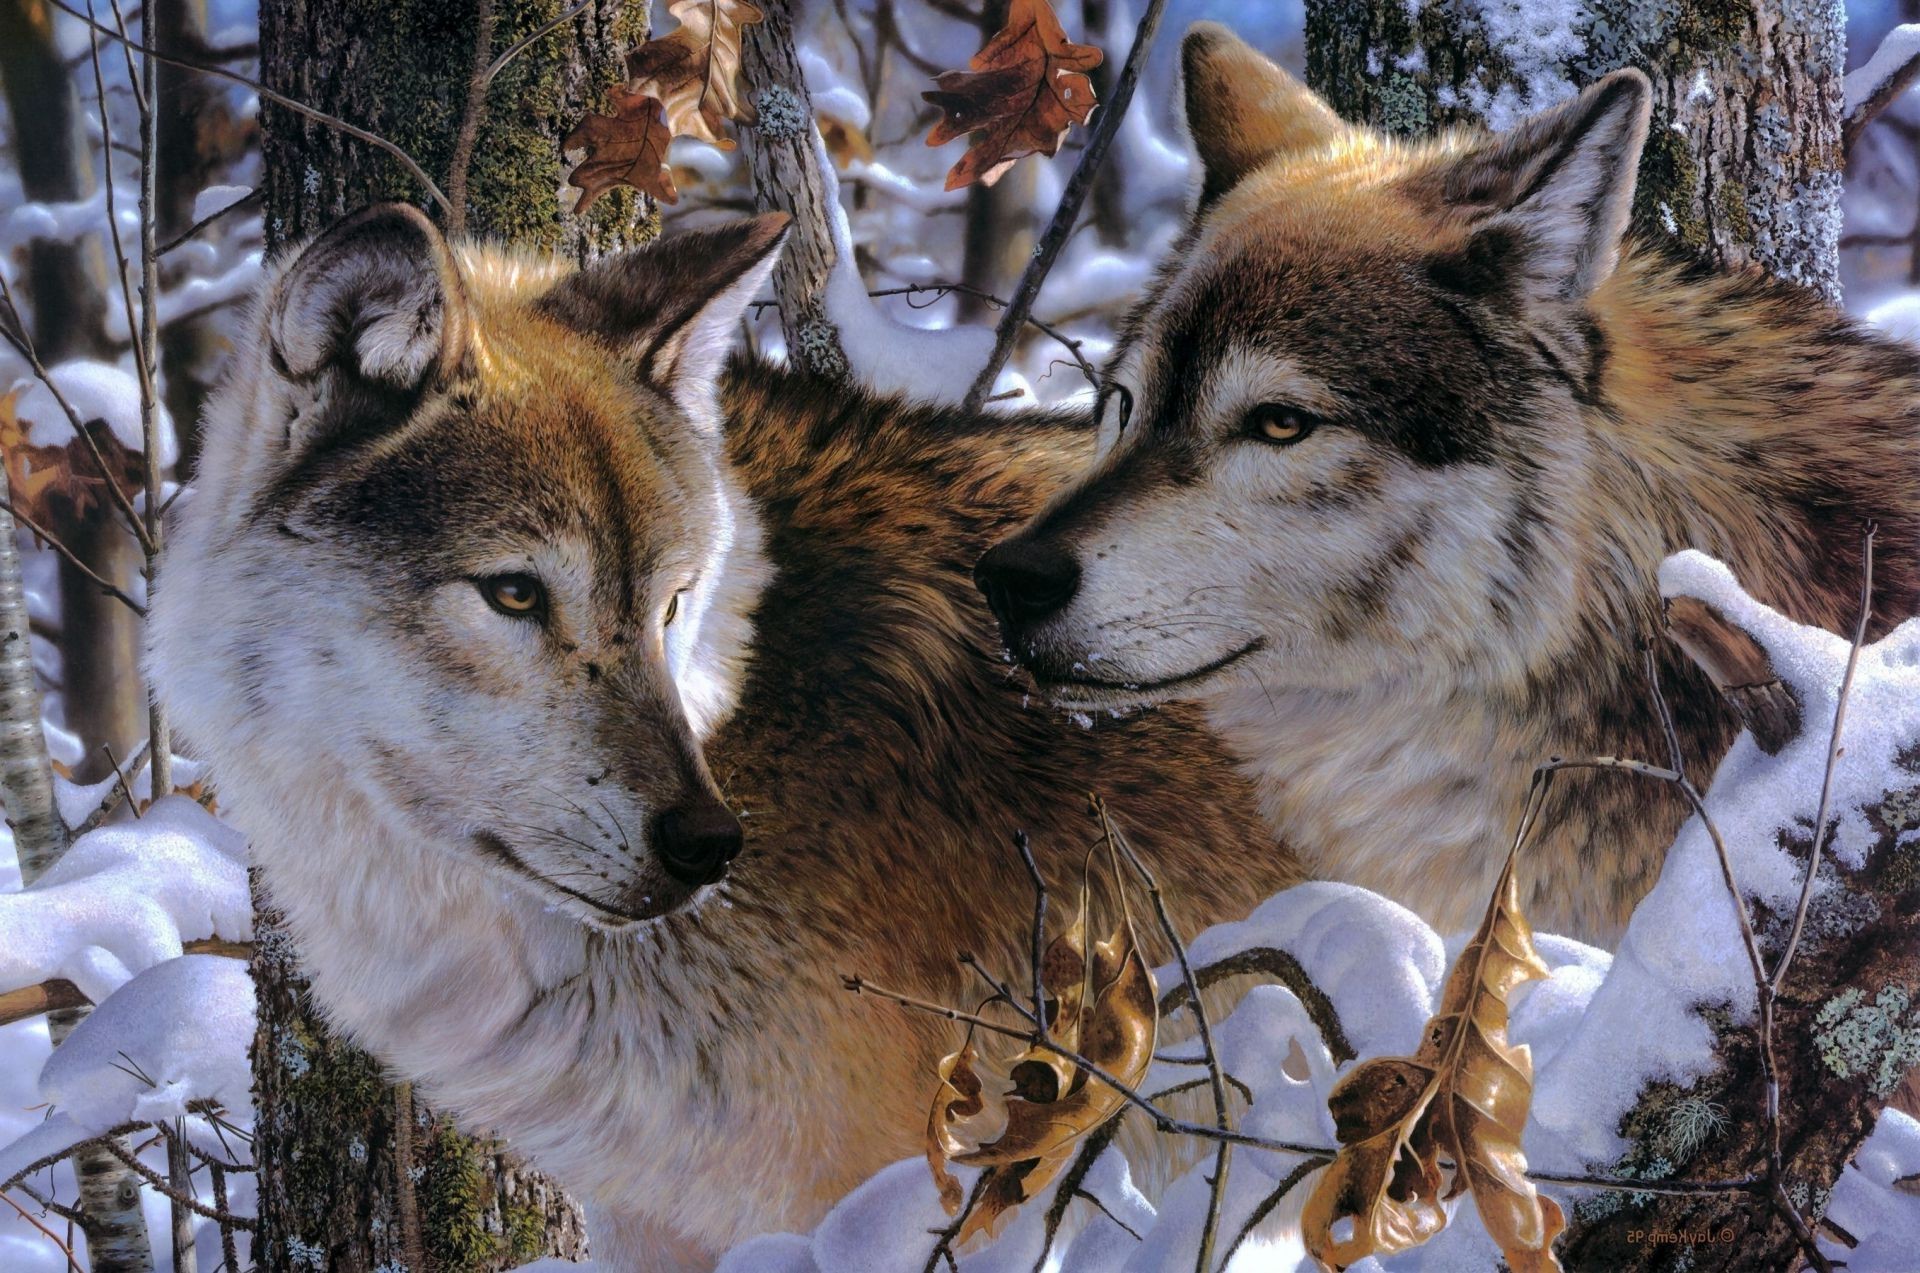
[[[1534,1094],[1524,1045],[1507,1043],[1507,995],[1548,975],[1513,883],[1515,856],[1461,950],[1440,1010],[1413,1056],[1356,1066],[1327,1098],[1340,1152],[1300,1215],[1308,1252],[1329,1269],[1419,1246],[1446,1227],[1442,1202],[1473,1190],[1513,1273],[1561,1265],[1565,1217],[1526,1179],[1521,1131]],[[1442,1158],[1452,1164],[1452,1181]],[[1332,1229],[1352,1219],[1352,1235]]]

